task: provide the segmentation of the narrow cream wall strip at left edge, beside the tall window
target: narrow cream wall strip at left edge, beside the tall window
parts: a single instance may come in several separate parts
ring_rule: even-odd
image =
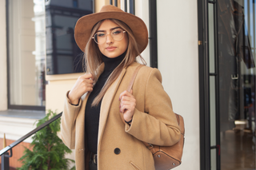
[[[6,1],[0,1],[0,111],[7,109]]]

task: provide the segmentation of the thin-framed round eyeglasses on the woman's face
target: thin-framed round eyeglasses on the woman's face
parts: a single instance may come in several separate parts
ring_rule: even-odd
[[[114,29],[110,33],[111,37],[114,39],[114,41],[121,41],[126,31],[121,29]],[[106,32],[98,32],[94,34],[94,42],[97,44],[103,44],[106,42]]]

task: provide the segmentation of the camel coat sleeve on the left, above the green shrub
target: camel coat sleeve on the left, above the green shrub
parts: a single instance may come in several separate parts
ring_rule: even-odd
[[[82,100],[80,99],[78,105],[71,105],[70,99],[67,97],[68,93],[69,92],[66,93],[64,110],[62,113],[61,138],[68,148],[74,149],[76,118],[78,117]]]

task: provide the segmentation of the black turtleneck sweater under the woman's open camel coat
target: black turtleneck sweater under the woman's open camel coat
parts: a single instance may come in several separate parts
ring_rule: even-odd
[[[97,106],[91,107],[94,98],[98,96],[103,85],[105,85],[107,78],[110,76],[110,73],[121,63],[123,58],[126,56],[126,53],[114,58],[109,58],[102,55],[102,61],[105,64],[103,73],[98,77],[98,81],[94,85],[93,91],[90,93],[90,96],[86,103],[86,118],[85,118],[85,132],[87,147],[90,152],[94,154],[97,153],[97,144],[98,144],[98,123],[99,123],[99,114],[102,105],[102,101],[99,102]]]

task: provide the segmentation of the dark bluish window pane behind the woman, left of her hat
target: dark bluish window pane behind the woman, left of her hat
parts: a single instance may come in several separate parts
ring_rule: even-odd
[[[83,53],[74,41],[78,18],[93,13],[92,0],[46,2],[46,73],[82,72]]]

